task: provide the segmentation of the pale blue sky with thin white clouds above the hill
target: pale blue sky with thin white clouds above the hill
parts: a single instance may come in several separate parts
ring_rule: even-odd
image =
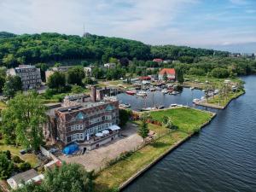
[[[256,0],[0,0],[0,32],[256,52]],[[250,46],[247,46],[249,44]]]

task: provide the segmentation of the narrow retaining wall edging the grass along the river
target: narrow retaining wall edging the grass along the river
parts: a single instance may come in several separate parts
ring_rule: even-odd
[[[201,109],[198,109],[201,110]],[[201,110],[203,111],[203,110]],[[208,112],[208,111],[207,111]],[[212,112],[208,112],[208,113],[212,113]],[[205,126],[209,125],[212,120],[216,117],[217,113],[212,113],[212,118],[209,119],[205,124],[201,125],[200,127],[200,131],[202,128],[204,128]],[[152,161],[151,163],[148,164],[148,166],[143,167],[142,170],[136,172],[133,176],[131,176],[130,178],[128,178],[125,183],[121,183],[119,185],[118,190],[121,191],[123,189],[125,189],[127,186],[129,186],[129,184],[131,184],[132,182],[134,182],[137,177],[141,177],[143,175],[144,172],[147,172],[152,166],[154,166],[155,164],[157,164],[160,160],[162,160],[164,157],[166,157],[167,154],[172,153],[173,150],[175,150],[176,148],[178,148],[179,146],[181,146],[183,143],[185,143],[186,141],[188,141],[191,137],[195,136],[195,134],[198,134],[197,131],[194,131],[193,133],[189,134],[188,137],[185,137],[179,141],[177,141],[177,143],[173,144],[165,153],[161,154],[156,160]]]

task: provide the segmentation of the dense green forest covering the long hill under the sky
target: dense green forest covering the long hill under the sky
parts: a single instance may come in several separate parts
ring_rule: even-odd
[[[0,32],[0,66],[5,67],[63,60],[107,62],[111,57],[141,61],[162,58],[192,63],[198,57],[210,55],[225,57],[229,53],[175,45],[151,46],[135,40],[96,35],[85,38],[49,32],[23,35]]]

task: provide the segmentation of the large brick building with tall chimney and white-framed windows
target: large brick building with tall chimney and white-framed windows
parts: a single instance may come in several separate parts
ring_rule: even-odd
[[[63,144],[79,143],[88,149],[99,147],[118,137],[112,129],[119,124],[119,102],[113,97],[96,101],[96,88],[93,87],[90,102],[64,100],[61,107],[49,110],[49,123],[44,133]],[[97,133],[107,131],[102,137]]]

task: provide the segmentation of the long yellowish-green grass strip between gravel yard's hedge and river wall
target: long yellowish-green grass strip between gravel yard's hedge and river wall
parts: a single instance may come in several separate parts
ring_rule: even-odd
[[[174,131],[170,135],[160,137],[156,142],[141,148],[125,160],[120,160],[113,166],[99,172],[98,177],[96,177],[96,191],[117,189],[121,183],[164,154],[174,143],[187,136],[188,134],[182,131]]]

